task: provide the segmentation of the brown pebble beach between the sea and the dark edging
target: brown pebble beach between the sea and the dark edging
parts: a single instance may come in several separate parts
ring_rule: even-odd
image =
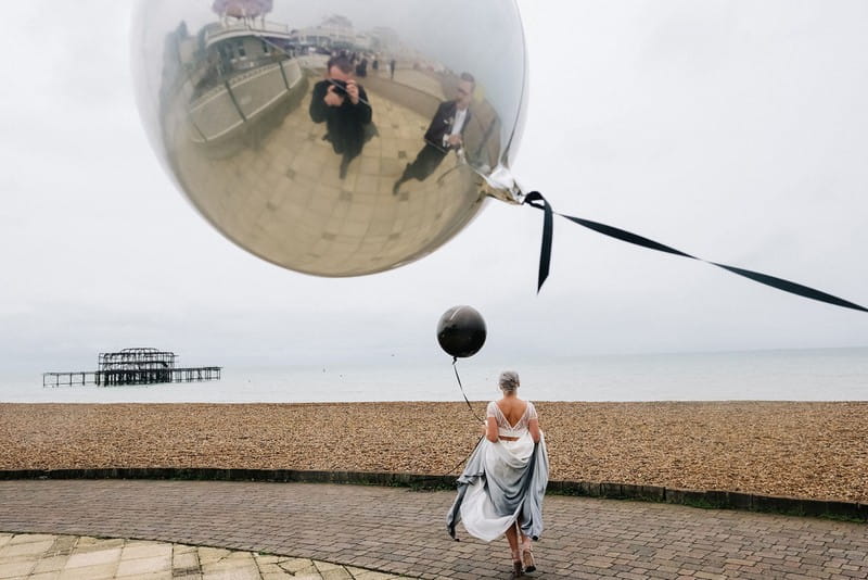
[[[551,479],[868,502],[866,402],[535,404]],[[480,434],[463,402],[0,403],[0,469],[457,474]]]

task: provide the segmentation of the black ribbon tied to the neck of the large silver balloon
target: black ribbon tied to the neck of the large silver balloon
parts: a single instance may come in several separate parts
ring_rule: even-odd
[[[819,290],[809,288],[807,286],[803,286],[801,283],[792,282],[790,280],[784,280],[783,278],[776,278],[775,276],[769,276],[767,274],[762,274],[760,272],[737,268],[735,266],[727,266],[726,264],[718,264],[717,262],[709,262],[707,260],[702,260],[701,257],[687,254],[685,252],[681,252],[680,250],[676,250],[675,248],[669,248],[668,245],[655,242],[654,240],[649,240],[648,238],[643,238],[642,236],[633,234],[631,231],[620,229],[613,226],[607,226],[605,224],[600,224],[599,222],[591,222],[590,219],[583,219],[582,217],[560,214],[551,209],[549,202],[538,191],[532,191],[531,193],[528,193],[524,198],[524,203],[526,203],[532,207],[536,207],[537,210],[541,210],[544,213],[542,245],[539,253],[539,277],[537,280],[537,292],[539,292],[539,290],[542,289],[542,283],[549,276],[549,264],[551,263],[551,236],[553,230],[552,216],[560,215],[561,217],[569,219],[574,224],[578,224],[579,226],[592,229],[593,231],[597,231],[604,236],[609,236],[610,238],[615,238],[617,240],[625,241],[627,243],[641,245],[642,248],[648,248],[649,250],[656,250],[659,252],[666,252],[669,254],[675,254],[682,257],[689,257],[691,260],[705,262],[706,264],[717,266],[718,268],[724,268],[726,270],[731,272],[732,274],[750,278],[755,282],[770,286],[771,288],[777,288],[778,290],[782,290],[791,294],[808,298],[810,300],[817,300],[819,302],[826,302],[827,304],[832,304],[833,306],[841,306],[842,308],[852,308],[854,311],[868,312],[868,308],[866,308],[865,306],[859,306],[858,304],[854,304],[853,302],[848,302],[838,297],[833,297],[832,294],[827,294],[826,292],[820,292]]]

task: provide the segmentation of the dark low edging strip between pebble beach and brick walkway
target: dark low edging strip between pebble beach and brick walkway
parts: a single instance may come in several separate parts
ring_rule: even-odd
[[[15,479],[180,479],[352,483],[417,490],[451,490],[457,476],[388,471],[306,471],[221,467],[106,467],[80,469],[0,469],[0,480]],[[546,493],[613,500],[669,503],[714,509],[767,512],[868,522],[868,503],[762,495],[725,490],[686,490],[611,481],[550,480]]]

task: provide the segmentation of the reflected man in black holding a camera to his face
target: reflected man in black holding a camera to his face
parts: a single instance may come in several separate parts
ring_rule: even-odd
[[[327,77],[314,85],[310,118],[326,123],[323,139],[332,143],[335,153],[343,155],[340,176],[346,177],[349,163],[361,153],[365,129],[371,123],[372,111],[365,89],[353,77],[353,64],[346,56],[329,60]]]

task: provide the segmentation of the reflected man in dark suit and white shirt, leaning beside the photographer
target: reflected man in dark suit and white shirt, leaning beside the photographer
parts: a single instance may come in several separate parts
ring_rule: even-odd
[[[475,87],[476,80],[473,75],[461,73],[455,99],[445,101],[437,108],[437,112],[425,131],[425,147],[412,163],[407,164],[404,174],[392,186],[392,193],[397,196],[401,184],[410,179],[420,181],[427,179],[449,150],[461,149],[464,128],[470,123],[470,101],[473,99]]]

